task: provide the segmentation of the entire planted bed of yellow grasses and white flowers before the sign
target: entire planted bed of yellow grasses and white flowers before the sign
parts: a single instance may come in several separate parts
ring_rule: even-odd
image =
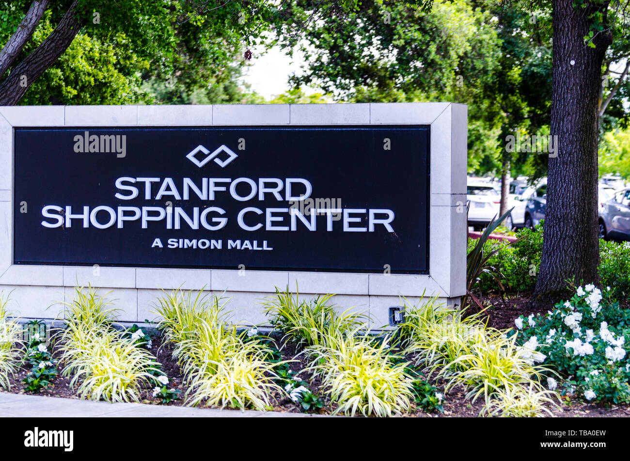
[[[9,376],[5,384],[10,385],[9,392],[20,394],[288,413],[629,416],[630,407],[617,404],[627,402],[627,392],[620,388],[617,397],[606,397],[600,378],[616,370],[615,363],[626,367],[622,360],[625,353],[621,358],[610,355],[608,365],[602,357],[608,344],[623,345],[621,335],[626,332],[630,336],[630,332],[602,327],[600,333],[595,329],[600,320],[625,319],[627,312],[619,309],[609,293],[602,299],[593,285],[585,290],[580,287],[570,301],[556,305],[549,315],[530,312],[525,297],[490,297],[486,300],[488,309],[467,317],[429,299],[406,308],[405,321],[394,336],[391,331],[366,336],[361,330],[363,317],[339,314],[329,296],[299,302],[294,293],[278,291],[265,305],[275,333],[265,336],[255,327],[238,330],[230,326],[224,319],[224,304],[217,297],[194,298],[192,293],[178,290],[159,300],[163,321],[156,324],[157,329],[113,329],[115,317],[107,303],[95,290],[84,294],[77,288],[77,299],[66,312],[67,326],[47,338],[50,341],[33,335],[38,323],[31,322],[28,341],[10,351],[14,361],[22,358],[22,365],[13,375],[4,373]],[[585,370],[603,370],[590,382],[580,370],[578,378],[570,381],[568,375],[575,375],[581,359],[578,349],[574,356],[568,343],[564,352],[564,341],[570,336],[565,340],[566,333],[560,335],[564,323],[570,325],[576,338],[584,334],[573,317],[563,323],[564,316],[575,317],[577,312],[585,316],[585,327],[595,329],[595,333],[588,330],[591,339],[582,344],[592,341],[596,351],[593,354],[591,348],[592,355],[587,358],[595,361],[585,359]],[[555,329],[550,332],[552,326],[559,329],[554,341],[562,342],[556,341],[556,346],[553,341],[546,341],[551,346],[541,344],[546,334],[547,339],[556,334]],[[5,327],[11,328],[6,317]],[[7,344],[0,341],[5,364]],[[553,347],[564,357],[561,361]],[[619,347],[615,351],[607,348],[605,355],[613,352],[622,353]],[[564,378],[537,365],[550,353],[551,358],[556,354],[550,365],[557,363],[568,370]],[[488,367],[488,363],[493,365]],[[619,373],[623,372],[619,368]],[[553,391],[555,385],[546,389],[551,386],[549,382],[555,383],[551,377],[558,378],[557,392]],[[490,393],[484,390],[484,379],[491,383]],[[597,388],[592,386],[595,381],[599,381]],[[375,382],[385,383],[385,387]],[[573,390],[567,392],[570,388]],[[601,393],[595,399],[600,403],[584,400],[595,398],[589,394],[591,388]],[[370,398],[381,407],[368,407]]]

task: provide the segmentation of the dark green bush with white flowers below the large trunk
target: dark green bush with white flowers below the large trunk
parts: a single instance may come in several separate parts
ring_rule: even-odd
[[[558,382],[547,374],[547,387],[560,386],[563,394],[577,394],[588,401],[630,402],[630,310],[620,309],[610,296],[594,285],[578,287],[553,312],[515,320],[519,344],[536,344],[553,368]]]

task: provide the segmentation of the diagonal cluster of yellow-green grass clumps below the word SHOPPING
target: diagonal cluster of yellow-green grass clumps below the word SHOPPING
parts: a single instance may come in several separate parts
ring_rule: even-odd
[[[226,321],[219,298],[175,290],[159,300],[158,324],[164,338],[175,345],[185,380],[186,404],[269,409],[280,363],[268,361],[273,351],[263,338],[247,337]]]

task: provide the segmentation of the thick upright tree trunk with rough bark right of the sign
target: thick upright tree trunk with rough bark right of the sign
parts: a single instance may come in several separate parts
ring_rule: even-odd
[[[532,306],[557,300],[567,282],[597,283],[598,103],[602,61],[612,43],[610,33],[599,33],[595,48],[585,44],[591,20],[601,11],[573,0],[553,0],[553,89],[551,135],[558,144],[549,157],[547,207],[542,261]]]

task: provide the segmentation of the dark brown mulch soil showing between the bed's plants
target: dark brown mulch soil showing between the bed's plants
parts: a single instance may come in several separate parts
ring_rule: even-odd
[[[482,316],[485,317],[484,321],[488,321],[488,326],[495,327],[497,329],[507,329],[514,326],[514,319],[521,314],[529,316],[532,310],[529,310],[527,306],[527,297],[512,297],[510,299],[501,299],[501,297],[488,297],[484,299],[490,307],[483,311]],[[542,312],[546,312],[545,309]],[[537,313],[537,312],[534,312]],[[171,346],[168,344],[162,344],[160,338],[153,339],[153,346],[151,353],[156,355],[157,361],[161,363],[163,371],[169,377],[169,389],[171,387],[181,391],[181,397],[178,401],[173,401],[168,405],[182,406],[185,401],[186,384],[183,380],[183,376],[178,363],[173,360],[171,355]],[[329,397],[326,396],[324,390],[321,389],[321,380],[317,377],[312,377],[312,374],[303,371],[307,367],[307,361],[304,355],[299,354],[299,348],[295,344],[285,343],[280,347],[282,353],[282,360],[294,360],[289,363],[289,367],[294,372],[300,372],[300,377],[309,382],[309,387],[314,394],[319,394],[324,400],[324,409],[319,409],[316,413],[331,414],[335,411],[336,406],[333,404]],[[56,355],[56,353],[54,353]],[[55,357],[57,358],[57,357]],[[63,364],[57,363],[57,369],[62,370]],[[21,380],[28,374],[30,367],[25,366],[19,370],[18,373],[11,379],[11,389],[3,390],[0,392],[12,392],[13,394],[25,394],[24,385]],[[302,371],[301,371],[302,370]],[[49,389],[43,389],[39,395],[52,396],[52,397],[65,397],[69,399],[77,399],[76,389],[71,389],[70,378],[57,375],[53,380]],[[438,389],[442,389],[440,383],[437,383]],[[152,397],[152,389],[147,388],[142,390],[140,402],[145,404],[161,404],[161,400]],[[420,417],[420,418],[443,418],[443,417],[476,417],[478,416],[481,408],[483,407],[483,397],[476,402],[471,402],[465,397],[466,392],[463,389],[453,389],[447,394],[443,407],[444,413],[433,412],[425,413],[419,408],[414,407],[413,411],[407,416]],[[300,413],[301,407],[297,406],[288,397],[275,396],[275,405],[273,411],[279,411],[283,413]],[[623,417],[630,416],[630,406],[612,406],[604,407],[597,404],[588,404],[579,400],[567,399],[561,402],[561,406],[557,409],[552,409],[553,416],[559,417],[575,417],[575,418],[589,418],[589,417]]]

